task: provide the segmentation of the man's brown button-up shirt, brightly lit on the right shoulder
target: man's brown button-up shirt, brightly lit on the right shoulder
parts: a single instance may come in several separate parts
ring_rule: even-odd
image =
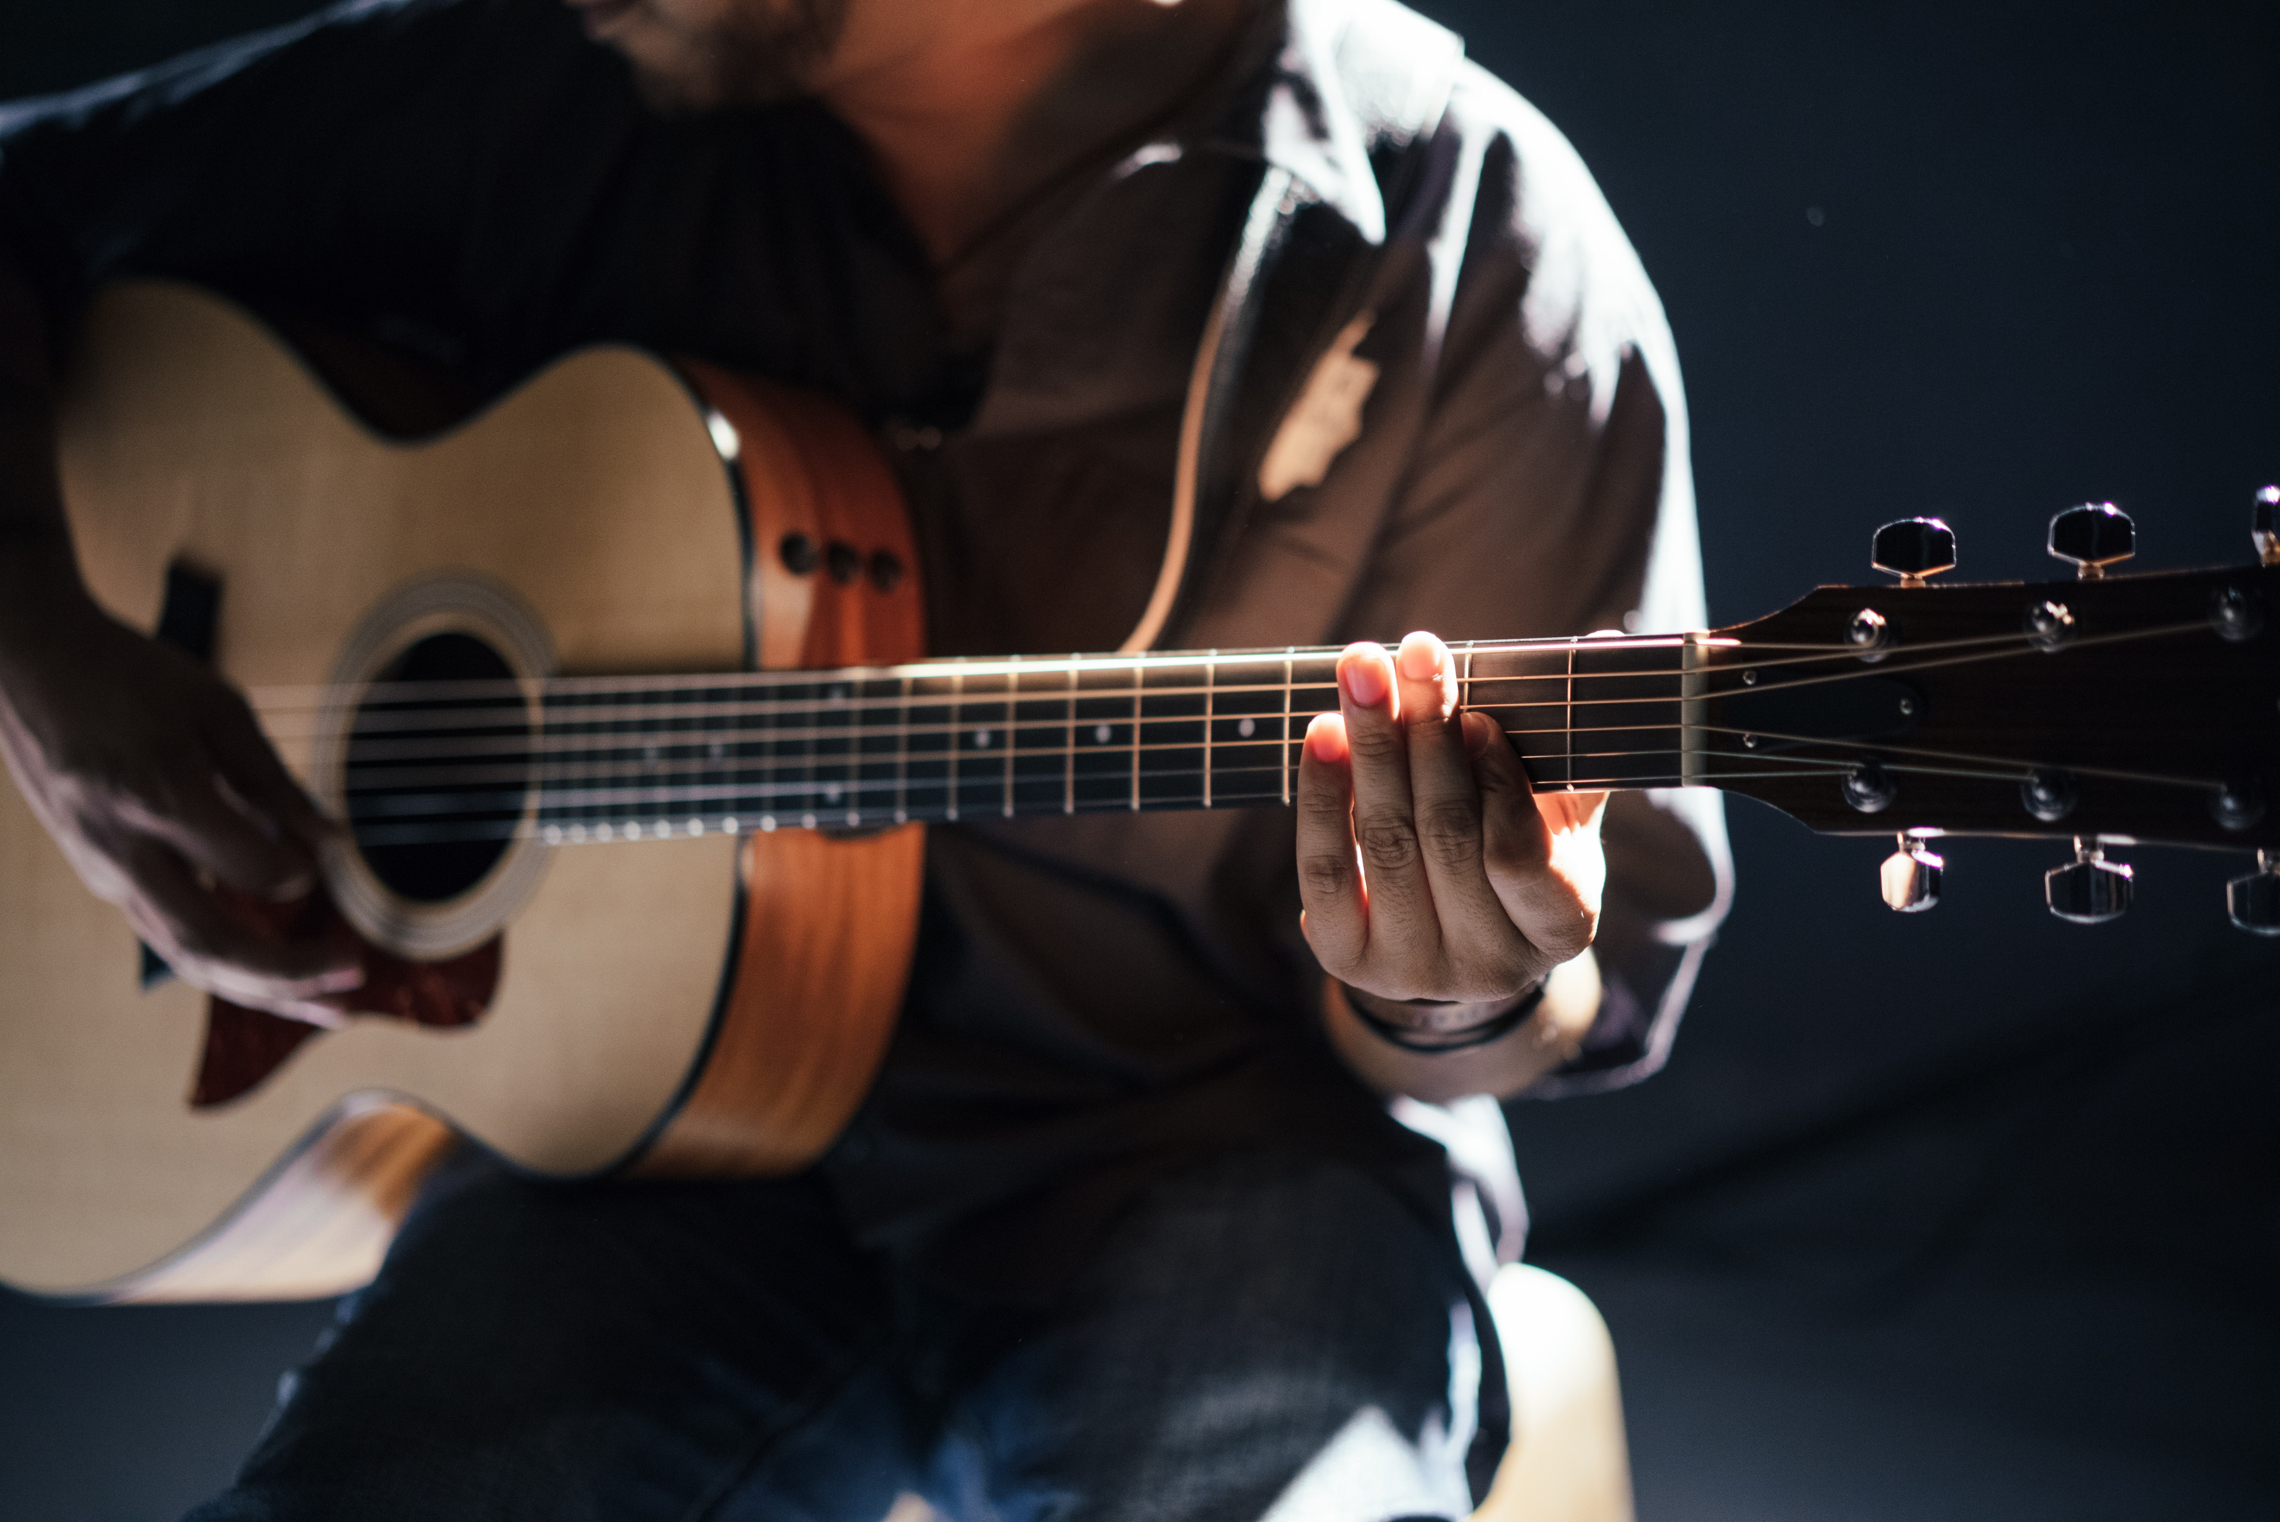
[[[1446,66],[1448,39],[1368,9],[1357,48],[1345,7],[1265,7],[1192,109],[1010,239],[976,283],[994,324],[946,321],[819,107],[657,121],[552,0],[360,7],[5,112],[0,239],[59,330],[98,283],[166,273],[479,387],[616,339],[825,390],[896,447],[935,649],[1060,654],[1115,647],[1147,604],[1197,344],[1277,185],[1293,237],[1375,251],[1354,301],[1375,383],[1318,485],[1238,492],[1167,638],[1699,627],[1678,365],[1628,242],[1566,141],[1473,66],[1423,148],[1373,134],[1373,91]],[[1389,201],[1400,164],[1423,169]],[[1607,1003],[1544,1091],[1662,1062],[1724,905],[1710,797],[1621,795],[1607,852]],[[1019,1290],[1133,1187],[1229,1148],[1446,1201],[1439,1148],[1320,1037],[1293,854],[1277,807],[937,827],[905,1018],[825,1162],[857,1228]]]

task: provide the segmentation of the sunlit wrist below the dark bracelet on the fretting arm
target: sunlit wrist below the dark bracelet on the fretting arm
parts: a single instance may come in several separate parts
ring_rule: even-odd
[[[1598,962],[1585,950],[1562,962],[1544,980],[1544,1000],[1507,1034],[1446,1053],[1420,1053],[1395,1046],[1354,1014],[1354,1003],[1370,1003],[1370,1014],[1400,1023],[1400,1009],[1368,993],[1354,993],[1338,980],[1322,980],[1322,1023],[1338,1057],[1373,1089],[1407,1094],[1427,1103],[1448,1103],[1466,1094],[1512,1098],[1575,1055],[1575,1044],[1591,1030],[1598,1014]],[[1452,1012],[1473,1025],[1493,1021],[1498,1007]]]

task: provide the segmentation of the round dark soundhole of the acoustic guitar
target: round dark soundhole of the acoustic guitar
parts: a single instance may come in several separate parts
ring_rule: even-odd
[[[401,898],[454,900],[513,843],[534,761],[513,677],[472,633],[431,633],[381,668],[358,704],[344,768],[349,832],[372,875]]]

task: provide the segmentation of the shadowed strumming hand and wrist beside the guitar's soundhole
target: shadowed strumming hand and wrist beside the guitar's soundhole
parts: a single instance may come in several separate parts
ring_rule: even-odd
[[[68,560],[43,583],[0,570],[0,752],[71,866],[185,982],[340,1023],[353,952],[244,925],[210,891],[301,893],[333,829],[246,702],[105,615]]]

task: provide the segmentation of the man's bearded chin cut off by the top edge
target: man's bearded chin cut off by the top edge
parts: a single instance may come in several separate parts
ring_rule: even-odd
[[[695,116],[814,93],[848,0],[723,0],[702,21],[638,9],[652,25],[618,43],[634,87],[661,116]]]

